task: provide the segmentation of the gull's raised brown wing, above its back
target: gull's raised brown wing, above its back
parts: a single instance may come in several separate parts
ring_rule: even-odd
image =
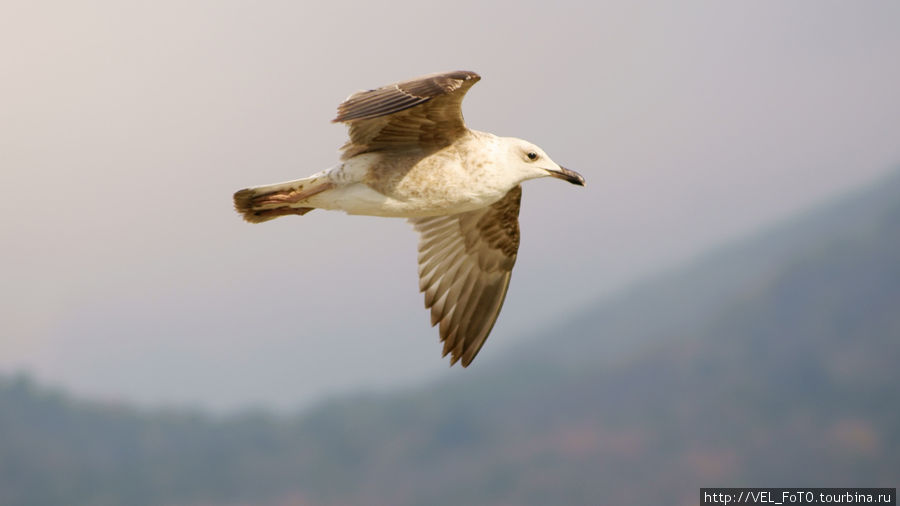
[[[466,132],[460,106],[481,77],[465,70],[429,74],[350,95],[334,122],[348,123],[346,160],[381,149],[439,149]]]

